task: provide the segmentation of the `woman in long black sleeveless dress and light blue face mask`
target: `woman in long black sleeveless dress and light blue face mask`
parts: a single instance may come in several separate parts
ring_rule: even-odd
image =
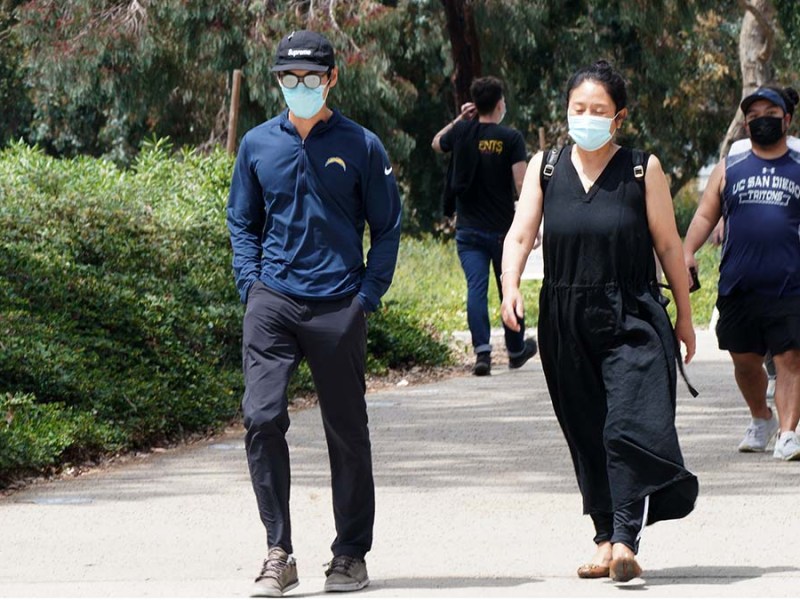
[[[697,497],[675,431],[680,343],[688,363],[695,335],[661,164],[612,141],[628,114],[624,80],[605,61],[581,69],[567,109],[575,145],[549,178],[541,152],[528,165],[503,249],[502,313],[511,328],[524,314],[520,273],[544,218],[540,355],[596,531],[596,553],[578,576],[628,581],[641,574],[644,526],[689,514]],[[674,330],[653,250],[675,299]]]

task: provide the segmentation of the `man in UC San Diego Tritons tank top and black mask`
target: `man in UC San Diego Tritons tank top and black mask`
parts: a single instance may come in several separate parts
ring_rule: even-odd
[[[720,263],[717,339],[733,359],[736,383],[751,421],[740,452],[800,460],[800,152],[787,132],[798,94],[762,87],[741,103],[751,149],[731,154],[711,173],[686,233],[687,268],[725,219]],[[767,404],[769,352],[776,368],[775,407]]]

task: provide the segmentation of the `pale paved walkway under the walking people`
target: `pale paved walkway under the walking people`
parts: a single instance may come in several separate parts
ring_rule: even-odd
[[[738,454],[747,422],[701,334],[678,431],[701,495],[642,540],[642,580],[583,581],[592,554],[541,365],[371,394],[372,585],[360,596],[797,596],[800,464]],[[293,414],[300,586],[320,594],[333,536],[317,409]],[[242,432],[0,500],[0,597],[243,596],[263,556]]]

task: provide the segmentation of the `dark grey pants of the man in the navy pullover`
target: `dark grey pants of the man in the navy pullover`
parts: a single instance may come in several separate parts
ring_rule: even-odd
[[[243,327],[245,446],[269,548],[292,549],[286,388],[305,357],[328,443],[334,555],[363,558],[372,546],[375,484],[364,399],[367,322],[357,296],[312,302],[256,282]]]

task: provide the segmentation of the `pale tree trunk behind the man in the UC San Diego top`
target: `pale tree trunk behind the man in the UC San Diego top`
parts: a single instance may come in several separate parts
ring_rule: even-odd
[[[772,51],[775,40],[775,7],[772,0],[741,0],[745,10],[739,35],[739,64],[742,68],[742,100],[758,87],[772,81]],[[745,137],[744,115],[736,110],[719,147],[724,158],[734,141]]]

